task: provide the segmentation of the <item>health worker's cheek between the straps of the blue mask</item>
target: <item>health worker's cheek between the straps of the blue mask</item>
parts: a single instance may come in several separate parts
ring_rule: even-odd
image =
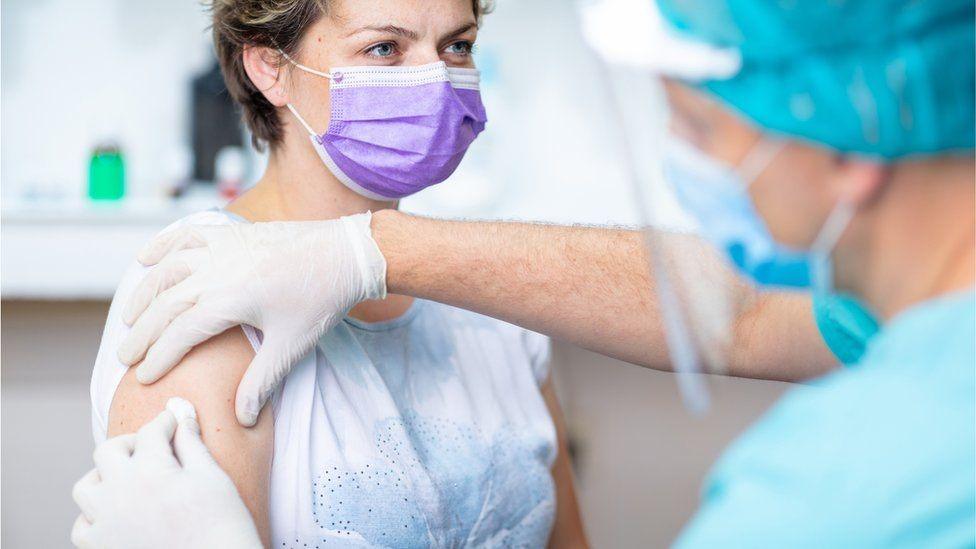
[[[799,249],[813,243],[827,208],[824,185],[818,185],[820,179],[816,171],[784,158],[749,188],[759,215],[777,242]]]

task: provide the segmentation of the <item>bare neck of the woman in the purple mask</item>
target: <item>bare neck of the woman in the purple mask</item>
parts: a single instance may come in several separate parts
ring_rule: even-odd
[[[397,202],[371,200],[343,185],[322,163],[305,134],[288,137],[291,139],[286,138],[271,153],[261,179],[227,206],[228,211],[257,223],[323,221],[397,207]],[[412,298],[391,294],[385,300],[363,302],[349,314],[380,322],[402,315],[412,302]]]

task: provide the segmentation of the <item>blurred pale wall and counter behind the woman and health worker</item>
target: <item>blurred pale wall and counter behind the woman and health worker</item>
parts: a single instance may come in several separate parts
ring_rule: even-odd
[[[131,257],[142,238],[137,231],[151,234],[178,216],[172,204],[150,202],[134,213],[130,206],[160,194],[167,157],[187,147],[189,81],[210,63],[209,38],[197,0],[5,0],[0,10],[0,530],[5,547],[66,547],[77,513],[71,485],[92,466],[88,377],[112,273],[121,274],[112,262]],[[634,223],[610,145],[619,140],[607,123],[606,83],[577,29],[572,2],[498,2],[478,54],[489,131],[448,185],[407,201],[406,209]],[[122,144],[131,175],[130,196],[117,209],[81,199],[88,154],[106,137]],[[42,229],[43,239],[11,245],[14,236]],[[113,253],[66,259],[79,246],[58,246],[83,230],[105,235],[88,238],[84,253]],[[110,238],[113,231],[118,238]],[[97,273],[92,263],[101,266]],[[8,284],[14,271],[26,273],[19,285]],[[44,301],[22,291],[31,289],[32,273],[45,281]],[[72,287],[80,279],[90,282],[84,292]],[[88,299],[74,300],[82,294]],[[694,418],[669,374],[560,343],[554,371],[596,547],[671,541],[719,449],[783,389],[714,380],[712,412]]]

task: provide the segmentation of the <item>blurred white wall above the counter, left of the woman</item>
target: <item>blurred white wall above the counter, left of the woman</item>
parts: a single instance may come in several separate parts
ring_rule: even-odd
[[[189,79],[209,64],[195,0],[3,2],[3,198],[81,196],[88,155],[119,141],[137,193],[186,146]]]

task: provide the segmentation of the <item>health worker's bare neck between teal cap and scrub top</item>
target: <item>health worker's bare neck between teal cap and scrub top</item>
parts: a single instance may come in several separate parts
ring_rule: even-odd
[[[973,170],[971,158],[899,165],[864,209],[861,226],[852,225],[847,286],[883,320],[973,286]],[[844,254],[838,250],[838,256]]]

